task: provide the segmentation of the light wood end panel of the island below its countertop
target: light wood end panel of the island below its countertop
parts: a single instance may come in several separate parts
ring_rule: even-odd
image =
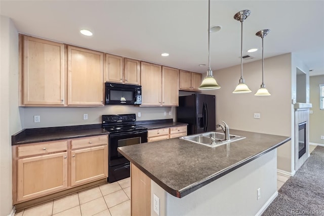
[[[131,165],[131,215],[151,215],[151,179]]]

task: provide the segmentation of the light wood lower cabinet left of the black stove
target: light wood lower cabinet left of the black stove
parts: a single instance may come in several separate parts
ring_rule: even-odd
[[[13,146],[13,204],[107,177],[108,135]]]

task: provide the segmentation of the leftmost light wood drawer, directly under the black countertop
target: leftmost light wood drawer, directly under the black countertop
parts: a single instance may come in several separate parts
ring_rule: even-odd
[[[67,141],[40,142],[30,146],[19,146],[18,157],[42,155],[67,150]]]

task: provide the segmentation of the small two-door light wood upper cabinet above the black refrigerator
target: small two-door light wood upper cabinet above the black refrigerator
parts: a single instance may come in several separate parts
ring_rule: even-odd
[[[201,84],[201,74],[180,70],[179,77],[179,90],[200,91],[198,87]]]

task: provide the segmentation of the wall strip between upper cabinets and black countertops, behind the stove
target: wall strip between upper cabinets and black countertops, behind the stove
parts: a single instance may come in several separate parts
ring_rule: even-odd
[[[114,114],[135,113],[137,121],[175,118],[175,107],[105,105],[104,107],[21,107],[20,109],[23,110],[23,128],[101,124],[101,115]],[[169,115],[170,111],[172,115]],[[141,117],[138,117],[139,112]],[[166,116],[164,112],[167,112]],[[83,114],[88,114],[88,120],[83,120]],[[33,122],[35,115],[41,117],[41,122]]]

